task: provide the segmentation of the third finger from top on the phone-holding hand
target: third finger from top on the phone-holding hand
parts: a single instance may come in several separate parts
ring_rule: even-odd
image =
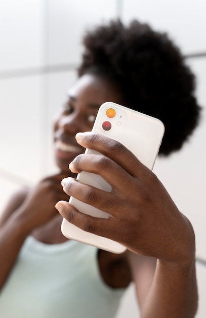
[[[66,178],[62,180],[64,192],[81,202],[85,202],[104,212],[117,215],[122,206],[118,196],[105,192],[88,184],[80,183],[76,179]],[[115,209],[114,209],[115,206]]]

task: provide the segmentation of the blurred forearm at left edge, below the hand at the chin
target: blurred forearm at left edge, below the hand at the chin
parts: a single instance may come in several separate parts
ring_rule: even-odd
[[[14,212],[0,228],[0,290],[2,289],[21,249],[29,234],[19,211]]]

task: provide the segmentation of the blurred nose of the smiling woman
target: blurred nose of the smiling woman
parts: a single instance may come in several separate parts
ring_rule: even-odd
[[[58,126],[69,134],[76,134],[82,130],[83,124],[80,116],[77,113],[72,113],[59,119]]]

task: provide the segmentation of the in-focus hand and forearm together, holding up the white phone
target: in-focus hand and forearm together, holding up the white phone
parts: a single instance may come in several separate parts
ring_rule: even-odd
[[[63,189],[111,217],[94,218],[62,201],[56,207],[79,228],[118,241],[137,255],[157,259],[151,287],[140,300],[142,317],[194,317],[197,308],[195,239],[189,220],[157,177],[128,149],[97,134],[77,137],[80,145],[103,155],[79,155],[70,165],[71,171],[100,174],[112,190],[105,193],[71,178],[64,180]],[[134,259],[130,262],[134,273],[133,263]],[[138,288],[145,286],[141,283]]]

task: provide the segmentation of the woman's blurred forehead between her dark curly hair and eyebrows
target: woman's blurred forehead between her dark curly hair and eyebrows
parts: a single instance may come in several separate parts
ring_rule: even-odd
[[[106,101],[120,103],[118,90],[108,80],[92,74],[81,76],[68,90],[68,96],[86,102],[102,104]]]

